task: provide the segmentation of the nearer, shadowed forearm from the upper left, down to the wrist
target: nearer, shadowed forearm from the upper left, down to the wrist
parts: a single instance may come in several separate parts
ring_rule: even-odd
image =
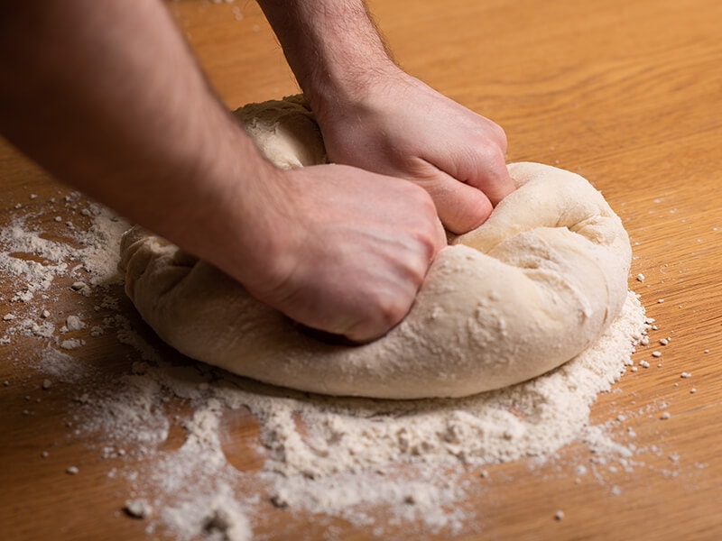
[[[251,181],[270,166],[208,89],[162,3],[0,10],[5,136],[59,179],[208,256],[208,236],[243,213],[263,188]]]

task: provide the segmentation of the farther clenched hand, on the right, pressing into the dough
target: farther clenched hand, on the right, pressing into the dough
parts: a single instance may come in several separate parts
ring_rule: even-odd
[[[402,70],[385,71],[357,96],[317,106],[329,159],[410,179],[449,231],[475,229],[514,191],[504,131]]]

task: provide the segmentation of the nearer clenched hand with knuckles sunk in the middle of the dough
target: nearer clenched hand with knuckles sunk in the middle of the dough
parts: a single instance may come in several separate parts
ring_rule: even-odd
[[[270,249],[262,281],[245,287],[307,326],[357,342],[384,335],[446,245],[430,197],[405,180],[342,165],[278,175],[273,231],[283,241]]]

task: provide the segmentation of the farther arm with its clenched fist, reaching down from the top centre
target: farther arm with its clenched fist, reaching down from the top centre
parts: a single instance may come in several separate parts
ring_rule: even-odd
[[[513,189],[502,129],[391,60],[363,0],[259,0],[319,120],[329,157],[412,179],[455,233]]]

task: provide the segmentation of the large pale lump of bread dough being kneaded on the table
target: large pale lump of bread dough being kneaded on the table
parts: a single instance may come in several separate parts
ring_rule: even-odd
[[[280,167],[324,162],[299,98],[236,114]],[[204,261],[143,229],[125,234],[125,291],[168,344],[255,380],[331,395],[461,397],[529,380],[592,344],[619,315],[631,250],[595,188],[538,163],[518,189],[433,261],[411,312],[373,343],[308,332]]]

